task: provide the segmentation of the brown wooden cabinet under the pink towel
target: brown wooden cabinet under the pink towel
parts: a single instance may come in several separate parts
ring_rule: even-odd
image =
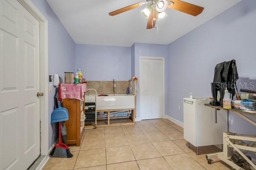
[[[81,110],[81,101],[77,99],[63,99],[63,107],[67,108],[69,119],[65,122],[67,129],[67,144],[81,143],[81,113],[84,113],[84,102]]]

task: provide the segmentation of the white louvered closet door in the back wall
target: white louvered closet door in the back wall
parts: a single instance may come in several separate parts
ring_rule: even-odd
[[[160,119],[163,115],[163,60],[140,59],[140,115]]]

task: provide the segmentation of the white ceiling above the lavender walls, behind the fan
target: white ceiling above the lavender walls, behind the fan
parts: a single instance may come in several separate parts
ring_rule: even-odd
[[[147,20],[140,14],[145,6],[116,16],[108,13],[143,0],[47,0],[61,23],[76,43],[92,45],[131,46],[134,42],[169,44],[241,0],[186,0],[204,7],[193,17],[173,9],[157,22],[156,29],[147,30]],[[183,0],[185,1],[185,0]]]

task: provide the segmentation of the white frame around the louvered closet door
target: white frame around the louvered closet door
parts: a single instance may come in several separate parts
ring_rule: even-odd
[[[151,60],[162,60],[162,118],[165,116],[165,57],[146,57],[140,56],[140,72],[141,72],[141,61],[142,59],[151,59]],[[140,74],[140,73],[139,73]],[[139,77],[140,79],[140,77]],[[139,89],[140,101],[141,101],[141,91]],[[141,107],[141,106],[140,106]],[[141,109],[140,109],[141,111]],[[140,119],[143,120],[143,115],[140,114]]]

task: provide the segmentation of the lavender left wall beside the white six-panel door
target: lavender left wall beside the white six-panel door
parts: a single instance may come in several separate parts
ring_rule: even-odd
[[[75,70],[75,42],[67,33],[58,17],[46,0],[32,0],[35,6],[41,11],[48,20],[48,67],[49,75],[58,74],[64,79],[65,71]],[[50,124],[51,113],[54,108],[55,88],[49,92],[49,147],[57,139],[57,126]]]

